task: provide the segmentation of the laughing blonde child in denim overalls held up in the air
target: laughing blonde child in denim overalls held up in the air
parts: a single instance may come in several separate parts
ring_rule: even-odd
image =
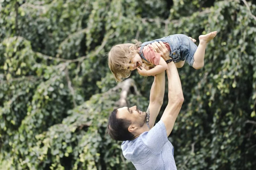
[[[176,67],[181,68],[185,61],[195,69],[204,66],[204,53],[206,45],[217,34],[217,31],[199,36],[199,45],[184,34],[174,34],[153,41],[135,44],[126,43],[113,46],[108,53],[108,67],[114,74],[116,81],[128,78],[132,70],[137,69],[142,76],[153,76],[167,69],[167,63],[174,61]],[[170,51],[170,60],[164,61],[161,54],[154,52],[153,42],[162,41]],[[155,66],[146,70],[142,66]],[[139,69],[140,68],[140,69]]]

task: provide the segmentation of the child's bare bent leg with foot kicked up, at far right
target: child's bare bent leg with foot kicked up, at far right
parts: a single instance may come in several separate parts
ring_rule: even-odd
[[[217,31],[199,36],[199,45],[194,54],[194,63],[192,65],[195,69],[201,69],[204,66],[204,53],[205,48],[210,40],[212,40],[217,34]]]

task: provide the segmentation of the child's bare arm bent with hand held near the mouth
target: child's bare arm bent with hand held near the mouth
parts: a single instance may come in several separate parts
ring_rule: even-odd
[[[160,58],[158,65],[156,65],[154,68],[150,70],[146,70],[143,67],[141,69],[137,68],[141,76],[154,76],[156,74],[164,72],[166,69],[167,69],[167,63],[164,61],[162,57]]]

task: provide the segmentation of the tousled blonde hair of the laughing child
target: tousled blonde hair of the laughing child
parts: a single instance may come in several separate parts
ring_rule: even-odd
[[[138,52],[141,45],[140,41],[134,40],[135,44],[117,44],[108,52],[108,67],[114,74],[116,81],[121,81],[131,75],[131,71],[125,66],[129,63],[132,56]]]

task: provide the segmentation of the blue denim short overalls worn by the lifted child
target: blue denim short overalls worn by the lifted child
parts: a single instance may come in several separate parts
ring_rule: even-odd
[[[159,42],[168,42],[171,48],[169,56],[174,59],[174,62],[186,61],[190,66],[194,63],[194,54],[196,52],[196,44],[189,39],[187,35],[184,34],[174,34],[153,41],[143,42],[141,44],[139,55],[142,59],[147,61],[144,57],[142,49],[148,44],[152,44],[154,41]],[[148,62],[148,61],[147,61]],[[148,62],[150,63],[150,62]]]

